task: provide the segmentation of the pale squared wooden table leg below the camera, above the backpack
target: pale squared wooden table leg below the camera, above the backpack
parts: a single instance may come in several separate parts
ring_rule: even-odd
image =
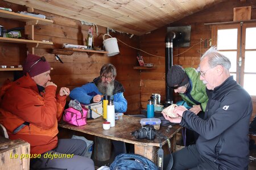
[[[141,145],[134,145],[134,153],[138,155],[142,155],[152,162],[156,161],[156,154],[155,154],[155,146],[141,146]]]

